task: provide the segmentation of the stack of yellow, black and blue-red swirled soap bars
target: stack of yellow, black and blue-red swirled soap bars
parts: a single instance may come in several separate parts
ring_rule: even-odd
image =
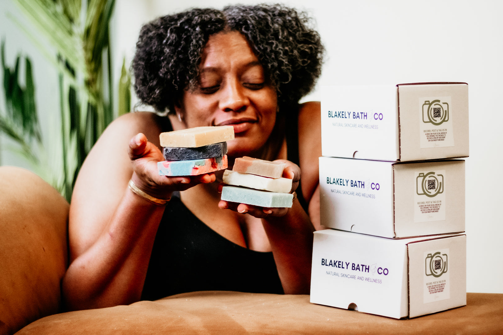
[[[227,168],[227,142],[232,126],[197,127],[161,133],[165,161],[157,163],[161,176],[195,176]]]

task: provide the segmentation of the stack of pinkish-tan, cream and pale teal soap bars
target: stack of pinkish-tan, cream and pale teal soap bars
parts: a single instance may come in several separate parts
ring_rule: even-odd
[[[232,171],[225,170],[221,199],[261,207],[291,207],[292,179],[282,178],[285,163],[236,158]],[[242,186],[242,187],[240,187]]]

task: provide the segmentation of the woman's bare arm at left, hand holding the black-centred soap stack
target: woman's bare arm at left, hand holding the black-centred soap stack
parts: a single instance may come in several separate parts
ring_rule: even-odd
[[[141,131],[153,143],[136,135]],[[155,116],[126,115],[107,128],[82,165],[70,205],[70,266],[62,283],[68,308],[128,304],[141,296],[164,207],[133,193],[130,178],[163,199],[175,189],[214,180],[159,176],[159,132]]]

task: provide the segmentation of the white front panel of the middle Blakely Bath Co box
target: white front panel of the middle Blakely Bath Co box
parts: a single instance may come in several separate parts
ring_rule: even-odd
[[[319,158],[321,225],[394,237],[393,162]]]

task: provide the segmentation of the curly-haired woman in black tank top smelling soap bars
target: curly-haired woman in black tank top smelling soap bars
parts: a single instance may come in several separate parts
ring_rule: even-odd
[[[136,93],[169,113],[117,119],[82,165],[63,280],[69,308],[196,290],[309,292],[320,115],[318,103],[298,100],[319,76],[323,48],[307,24],[292,9],[261,5],[194,9],[142,28]],[[221,201],[222,171],[158,175],[161,132],[223,125],[235,133],[229,168],[242,156],[288,163],[291,208]]]

